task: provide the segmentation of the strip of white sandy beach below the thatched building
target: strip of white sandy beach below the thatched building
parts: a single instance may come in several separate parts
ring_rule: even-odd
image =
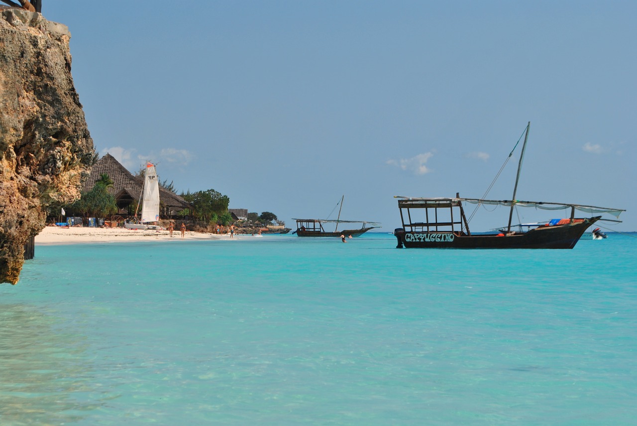
[[[233,240],[250,238],[250,236],[237,236]],[[86,243],[122,243],[126,241],[169,241],[169,240],[231,240],[229,235],[206,234],[205,232],[186,231],[182,238],[180,231],[173,231],[171,238],[168,231],[141,231],[124,228],[89,228],[47,226],[36,236],[36,245],[54,244],[86,244]]]

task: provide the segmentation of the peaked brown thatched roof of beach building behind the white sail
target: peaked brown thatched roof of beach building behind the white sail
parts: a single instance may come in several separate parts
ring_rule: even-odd
[[[109,188],[108,192],[115,195],[117,207],[120,209],[119,214],[133,215],[135,211],[134,209],[131,211],[130,206],[140,202],[143,178],[133,176],[120,162],[115,160],[115,157],[107,153],[91,167],[90,176],[82,188],[83,192],[93,188],[103,173],[108,174],[108,177],[113,181],[113,187]],[[162,217],[176,215],[179,211],[190,208],[190,204],[182,197],[161,186],[159,187],[159,202],[159,214]]]

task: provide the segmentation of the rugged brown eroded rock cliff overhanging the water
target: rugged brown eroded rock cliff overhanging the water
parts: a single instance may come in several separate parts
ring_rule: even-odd
[[[15,284],[46,208],[80,197],[93,141],[71,77],[71,34],[0,7],[0,282]]]

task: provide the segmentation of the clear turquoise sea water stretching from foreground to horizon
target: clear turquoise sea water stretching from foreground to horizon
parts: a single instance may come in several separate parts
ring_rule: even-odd
[[[1,425],[600,425],[637,415],[637,238],[38,246]]]

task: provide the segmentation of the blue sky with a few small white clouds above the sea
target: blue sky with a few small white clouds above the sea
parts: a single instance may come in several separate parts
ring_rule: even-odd
[[[345,195],[341,218],[392,231],[394,195],[482,196],[530,121],[517,198],[623,208],[602,225],[637,231],[637,3],[64,0],[43,15],[71,31],[96,150],[151,160],[178,191],[290,227]],[[489,197],[511,197],[516,167]]]

